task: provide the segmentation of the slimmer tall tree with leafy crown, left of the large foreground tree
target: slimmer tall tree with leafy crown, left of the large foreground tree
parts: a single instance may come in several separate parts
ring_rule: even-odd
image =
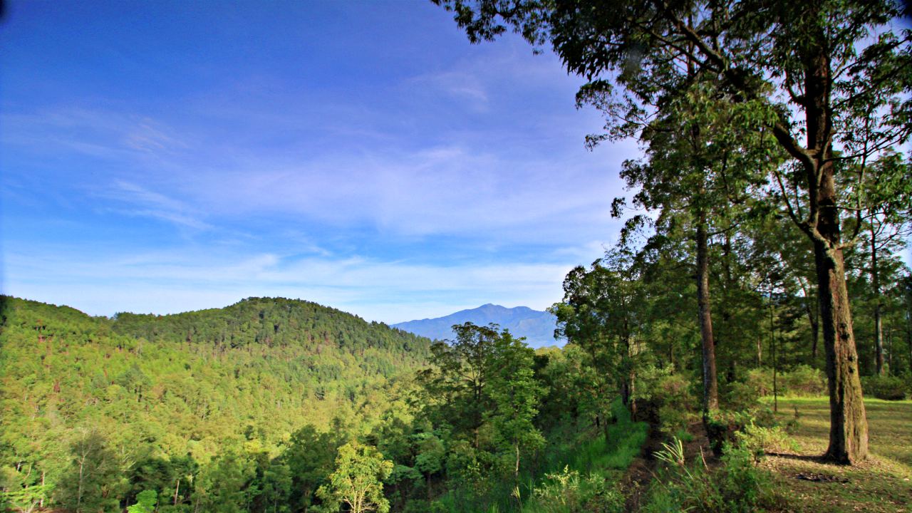
[[[673,55],[668,56],[674,60]],[[658,115],[637,116],[617,126],[612,138],[638,137],[646,146],[646,156],[624,163],[621,176],[629,188],[637,188],[635,206],[660,210],[665,217],[681,217],[689,225],[693,240],[694,269],[697,280],[697,305],[702,342],[703,411],[708,414],[719,408],[719,385],[716,364],[716,337],[713,333],[712,301],[710,294],[710,239],[723,236],[731,241],[731,232],[741,221],[749,193],[762,182],[764,171],[775,165],[775,148],[771,138],[758,130],[759,126],[743,121],[750,104],[733,104],[716,81],[703,80],[695,65],[688,60],[683,66],[668,66],[648,80],[628,87],[640,91],[656,89],[658,85],[675,90],[671,98],[656,96],[656,105],[649,110]],[[677,84],[677,85],[676,85]],[[594,82],[580,91],[580,101],[610,111],[612,101],[606,91],[610,86]],[[685,89],[681,93],[681,89]],[[641,116],[642,117],[641,117]],[[598,141],[590,137],[589,141]],[[621,201],[616,200],[617,207]],[[630,220],[637,225],[644,219],[637,215]],[[662,224],[656,224],[661,228]],[[731,242],[727,245],[731,248]],[[729,250],[731,253],[731,250]],[[731,275],[731,273],[728,273]],[[731,281],[731,279],[729,279]]]

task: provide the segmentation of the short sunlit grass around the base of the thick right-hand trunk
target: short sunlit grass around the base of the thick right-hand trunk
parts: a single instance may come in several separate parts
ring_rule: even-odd
[[[770,400],[772,406],[772,399]],[[799,452],[772,455],[782,511],[912,513],[912,401],[865,399],[870,457],[858,466],[822,463],[830,428],[829,401],[779,399],[783,422],[798,414]]]

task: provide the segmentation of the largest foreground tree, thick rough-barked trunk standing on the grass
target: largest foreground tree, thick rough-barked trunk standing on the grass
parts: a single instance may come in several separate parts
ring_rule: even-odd
[[[513,27],[535,45],[551,43],[565,67],[590,80],[611,76],[627,87],[675,63],[720,80],[731,101],[755,102],[760,121],[793,159],[776,173],[782,200],[814,244],[830,391],[826,456],[854,463],[867,455],[867,422],[845,285],[846,207],[837,173],[873,161],[912,130],[912,33],[891,24],[890,0],[791,0],[668,3],[567,0],[435,0],[456,14],[470,40]],[[658,83],[658,82],[657,82]],[[618,99],[612,118],[652,104],[668,89]],[[791,185],[794,184],[794,187]],[[790,195],[798,191],[797,196]],[[803,208],[799,209],[799,203]]]

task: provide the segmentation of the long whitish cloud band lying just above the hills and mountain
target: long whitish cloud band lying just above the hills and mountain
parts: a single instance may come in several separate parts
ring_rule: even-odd
[[[93,315],[170,313],[250,296],[285,296],[389,323],[445,315],[485,302],[544,309],[560,299],[560,284],[572,267],[447,266],[367,257],[236,257],[210,252],[118,256],[72,248],[43,255],[7,255],[4,293],[67,304]]]

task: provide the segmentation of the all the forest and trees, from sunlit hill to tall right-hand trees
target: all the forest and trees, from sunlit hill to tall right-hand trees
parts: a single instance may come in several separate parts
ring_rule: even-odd
[[[912,506],[903,7],[435,3],[472,42],[512,30],[586,79],[590,145],[641,145],[617,245],[551,308],[565,347],[472,323],[432,342],[287,299],[106,319],[5,297],[4,507]]]

